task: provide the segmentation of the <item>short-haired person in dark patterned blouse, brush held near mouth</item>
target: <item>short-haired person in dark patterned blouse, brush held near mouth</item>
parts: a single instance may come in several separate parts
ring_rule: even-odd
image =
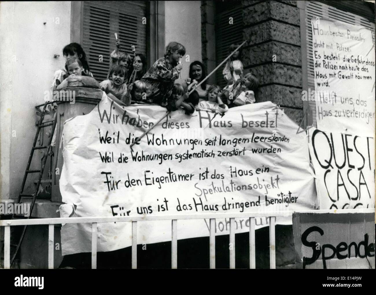
[[[147,87],[148,102],[167,107],[174,81],[179,78],[180,70],[183,68],[182,64],[178,63],[183,55],[185,55],[185,47],[180,43],[170,42],[164,57],[159,58],[141,78]],[[174,104],[170,106],[172,109],[169,110],[177,109]]]

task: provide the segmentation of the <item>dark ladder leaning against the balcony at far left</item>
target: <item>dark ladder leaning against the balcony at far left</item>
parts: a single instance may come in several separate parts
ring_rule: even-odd
[[[46,113],[46,107],[47,107],[47,105],[49,105],[51,103],[54,103],[54,102],[48,102],[47,101],[47,102],[44,103],[44,105],[38,105],[38,106],[36,106],[36,108],[39,108],[40,106],[43,106],[43,109],[42,109],[42,112],[41,112],[41,118],[39,119],[39,122],[37,124],[37,130],[36,130],[36,134],[35,134],[35,138],[34,138],[33,147],[31,149],[30,156],[29,156],[29,161],[27,162],[25,174],[24,174],[24,177],[23,177],[23,180],[22,180],[21,191],[20,191],[20,194],[18,195],[18,199],[17,199],[17,203],[19,204],[22,197],[32,198],[32,202],[30,204],[29,216],[26,219],[30,218],[31,213],[33,211],[33,207],[34,207],[34,204],[35,204],[35,201],[36,201],[36,197],[37,197],[38,191],[39,191],[39,186],[40,186],[41,181],[42,181],[42,175],[43,175],[43,172],[44,172],[44,167],[45,167],[45,164],[46,164],[46,161],[47,161],[47,157],[48,157],[48,155],[50,153],[51,143],[52,143],[52,137],[53,137],[53,134],[55,132],[56,122],[57,122],[57,118],[58,118],[57,115],[55,115],[55,119],[53,119],[53,120],[43,121],[44,120],[44,115]],[[36,146],[36,143],[37,143],[38,137],[39,137],[39,133],[43,130],[43,128],[46,128],[46,127],[49,127],[49,126],[52,126],[52,130],[51,130],[51,136],[49,138],[48,144],[47,145],[42,145],[42,146]],[[32,159],[33,159],[34,151],[39,150],[39,149],[45,149],[45,152],[44,152],[42,160],[41,160],[41,162],[42,162],[41,163],[41,168],[40,169],[30,169],[30,165],[31,165],[31,162],[32,162]],[[36,182],[35,190],[34,190],[33,193],[24,193],[24,188],[25,188],[27,176],[29,174],[31,174],[31,173],[39,173],[39,177],[38,177],[38,181]],[[14,217],[15,217],[15,213],[12,214],[12,219],[14,219]],[[22,240],[23,240],[23,238],[25,236],[25,233],[26,233],[26,227],[27,227],[27,225],[24,225],[22,233],[21,233],[20,240],[19,240],[19,242],[17,244],[17,248],[16,248],[16,250],[15,250],[15,252],[13,254],[10,266],[12,266],[12,263],[14,262],[14,259],[15,259],[16,255],[17,255],[18,249],[21,246]]]

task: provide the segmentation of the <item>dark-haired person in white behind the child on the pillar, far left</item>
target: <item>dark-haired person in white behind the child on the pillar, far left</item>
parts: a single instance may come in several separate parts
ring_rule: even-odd
[[[78,58],[82,64],[83,71],[87,76],[93,76],[90,72],[88,62],[86,61],[86,55],[83,51],[82,47],[78,43],[71,43],[64,47],[63,55],[65,60],[69,58]],[[57,70],[54,74],[53,81],[52,81],[52,90],[55,90],[58,85],[64,81],[64,79],[68,78],[69,74],[66,69]]]

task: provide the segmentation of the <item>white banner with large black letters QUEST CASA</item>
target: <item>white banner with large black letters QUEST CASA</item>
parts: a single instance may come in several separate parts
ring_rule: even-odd
[[[374,138],[310,129],[320,209],[374,208]]]

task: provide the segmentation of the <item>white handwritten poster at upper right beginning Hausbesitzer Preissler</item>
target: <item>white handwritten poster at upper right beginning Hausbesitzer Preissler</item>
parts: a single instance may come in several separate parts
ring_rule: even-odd
[[[366,27],[312,19],[317,128],[372,136],[375,128],[374,35]]]

